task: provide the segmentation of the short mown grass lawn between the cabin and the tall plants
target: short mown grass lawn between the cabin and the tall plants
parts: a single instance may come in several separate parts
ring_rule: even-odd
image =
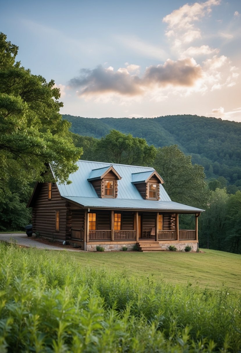
[[[173,284],[220,289],[223,285],[240,292],[241,255],[223,251],[193,252],[68,252],[81,266],[125,271],[128,276],[163,279]]]

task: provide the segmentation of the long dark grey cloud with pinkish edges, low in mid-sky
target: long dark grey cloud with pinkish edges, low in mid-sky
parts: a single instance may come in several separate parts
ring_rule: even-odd
[[[132,70],[133,66],[129,70]],[[113,67],[103,68],[102,66],[94,70],[82,69],[80,77],[70,80],[70,87],[78,89],[80,96],[105,93],[135,96],[143,95],[147,89],[156,87],[193,86],[201,77],[202,69],[195,60],[186,58],[172,61],[168,59],[164,65],[149,66],[142,78],[131,75],[128,66],[119,68],[116,72]]]

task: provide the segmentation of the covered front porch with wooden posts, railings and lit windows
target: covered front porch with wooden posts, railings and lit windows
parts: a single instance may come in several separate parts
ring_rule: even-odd
[[[198,242],[198,216],[195,229],[179,229],[179,214],[125,210],[74,210],[69,215],[69,238],[86,244],[130,243],[148,239],[160,243]]]

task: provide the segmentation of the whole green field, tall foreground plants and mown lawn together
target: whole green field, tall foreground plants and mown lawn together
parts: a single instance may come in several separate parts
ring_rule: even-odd
[[[0,352],[239,352],[240,259],[0,243]]]

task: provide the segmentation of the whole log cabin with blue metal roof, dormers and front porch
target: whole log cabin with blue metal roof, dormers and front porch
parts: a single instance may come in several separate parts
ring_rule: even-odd
[[[153,168],[77,164],[71,184],[35,185],[27,205],[33,208],[34,232],[85,251],[96,251],[98,245],[105,251],[136,245],[140,251],[168,250],[170,245],[197,249],[198,217],[204,210],[171,201]],[[193,214],[195,229],[179,229],[180,214]]]

